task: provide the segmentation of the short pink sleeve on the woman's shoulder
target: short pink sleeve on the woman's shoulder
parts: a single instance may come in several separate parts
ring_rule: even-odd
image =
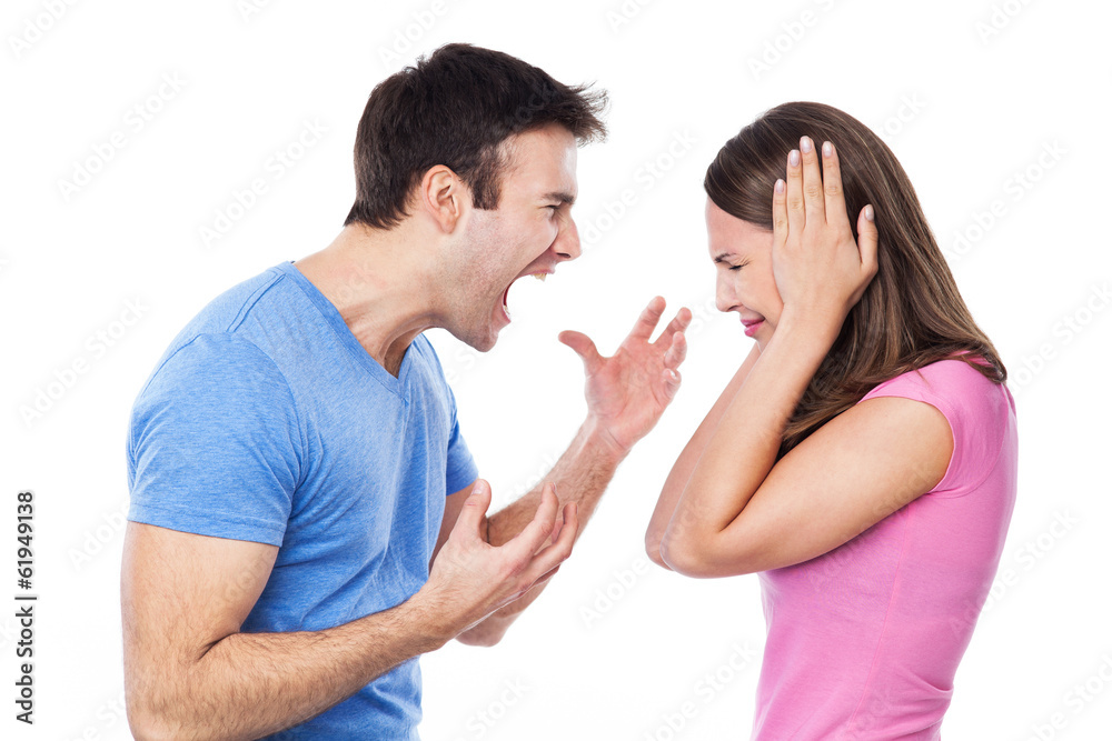
[[[961,360],[940,360],[884,381],[861,401],[876,397],[929,403],[950,422],[954,452],[945,475],[930,493],[965,494],[989,475],[1004,442],[999,422],[1012,403],[1001,387]]]

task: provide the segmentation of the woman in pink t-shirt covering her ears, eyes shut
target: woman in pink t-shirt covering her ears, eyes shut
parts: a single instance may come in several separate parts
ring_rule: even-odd
[[[649,557],[759,574],[753,739],[939,739],[1015,500],[1004,366],[856,119],[774,108],[704,188],[717,306],[756,346],[676,460]]]

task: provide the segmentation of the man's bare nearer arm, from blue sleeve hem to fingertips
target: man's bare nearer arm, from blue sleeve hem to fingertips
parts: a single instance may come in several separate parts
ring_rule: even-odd
[[[345,700],[435,650],[547,578],[570,553],[574,505],[549,545],[558,503],[502,548],[480,539],[489,487],[477,485],[428,582],[388,610],[321,631],[241,633],[274,545],[131,522],[121,602],[128,720],[145,739],[257,739]]]

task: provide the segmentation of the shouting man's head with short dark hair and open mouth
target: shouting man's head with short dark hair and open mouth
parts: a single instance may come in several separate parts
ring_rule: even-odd
[[[345,226],[415,230],[437,326],[480,351],[508,321],[509,286],[579,254],[576,148],[603,139],[603,91],[508,54],[438,49],[370,94]]]

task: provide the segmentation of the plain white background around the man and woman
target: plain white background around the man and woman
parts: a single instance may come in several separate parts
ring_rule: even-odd
[[[764,635],[756,578],[645,569],[642,538],[672,462],[749,343],[714,311],[703,172],[741,127],[788,100],[834,104],[882,133],[1011,372],[1022,458],[1001,573],[1013,578],[994,588],[957,672],[945,738],[1109,738],[1108,3],[53,4],[57,18],[50,2],[8,0],[0,17],[0,599],[14,604],[21,489],[36,495],[40,594],[33,729],[13,720],[14,608],[0,609],[0,735],[130,738],[119,571],[131,402],[211,298],[336,236],[370,89],[469,41],[612,98],[609,140],[580,150],[583,258],[514,288],[514,323],[489,353],[430,332],[495,505],[535,483],[583,419],[582,368],[560,330],[609,353],[656,293],[667,318],[685,304],[697,323],[678,398],[547,592],[498,647],[423,660],[424,738],[748,738]],[[306,121],[327,132],[298,151]],[[122,147],[109,147],[113,134]],[[278,150],[299,156],[281,177]],[[86,184],[62,183],[81,168],[96,170]],[[230,208],[256,178],[266,193]],[[606,206],[626,189],[636,203],[613,218]],[[200,230],[218,212],[236,218],[206,244]],[[969,241],[955,247],[959,233]],[[128,301],[141,318],[126,327]],[[85,372],[67,372],[81,361]],[[36,417],[40,392],[57,398],[40,398]],[[1054,527],[1060,517],[1075,522]],[[742,669],[735,645],[752,654]],[[1079,694],[1086,681],[1093,694]],[[694,717],[674,732],[685,702]]]

